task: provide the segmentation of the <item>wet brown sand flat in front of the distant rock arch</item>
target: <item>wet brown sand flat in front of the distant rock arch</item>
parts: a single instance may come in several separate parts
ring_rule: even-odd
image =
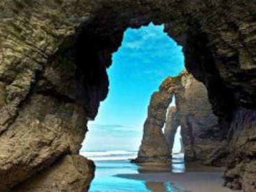
[[[142,180],[155,192],[165,192],[161,183],[171,183],[175,192],[231,192],[229,188],[223,187],[221,172],[186,172],[186,173],[139,173],[123,174],[117,177]]]

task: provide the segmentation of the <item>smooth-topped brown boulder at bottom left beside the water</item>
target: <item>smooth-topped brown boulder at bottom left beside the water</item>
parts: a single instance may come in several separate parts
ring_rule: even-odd
[[[15,187],[15,191],[77,191],[88,190],[95,165],[81,156],[64,156],[44,172]]]

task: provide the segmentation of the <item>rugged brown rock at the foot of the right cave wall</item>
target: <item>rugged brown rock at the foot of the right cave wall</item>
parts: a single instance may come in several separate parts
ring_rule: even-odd
[[[229,136],[226,185],[244,191],[256,191],[256,110],[240,107],[234,113]]]

